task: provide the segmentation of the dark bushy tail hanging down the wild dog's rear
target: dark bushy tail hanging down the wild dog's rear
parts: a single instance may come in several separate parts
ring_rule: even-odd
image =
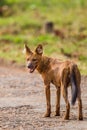
[[[75,74],[75,66],[72,67],[71,69],[71,94],[72,94],[72,99],[71,99],[71,104],[74,105],[77,99],[77,94],[78,94],[78,87],[76,83],[76,74]]]

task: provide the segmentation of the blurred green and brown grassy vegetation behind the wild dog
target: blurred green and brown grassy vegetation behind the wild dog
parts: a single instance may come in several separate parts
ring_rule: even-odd
[[[44,32],[47,21],[64,35]],[[0,0],[0,57],[25,63],[23,45],[44,45],[44,53],[75,60],[87,75],[86,0]]]

